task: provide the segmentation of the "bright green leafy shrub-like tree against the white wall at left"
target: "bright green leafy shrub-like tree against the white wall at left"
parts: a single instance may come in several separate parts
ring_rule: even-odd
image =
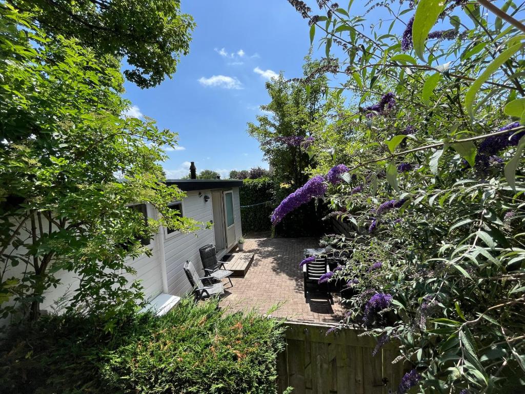
[[[158,164],[176,136],[121,116],[130,103],[114,58],[51,40],[8,4],[0,15],[0,312],[36,319],[62,269],[81,279],[69,309],[103,316],[110,329],[143,297],[124,275],[133,274],[127,258],[151,254],[144,244],[159,225],[197,229],[167,206],[183,196]],[[135,203],[159,217],[146,223]]]

